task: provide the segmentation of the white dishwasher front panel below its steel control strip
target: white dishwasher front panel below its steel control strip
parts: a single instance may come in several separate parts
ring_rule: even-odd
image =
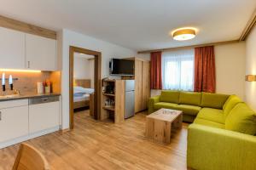
[[[37,133],[60,124],[60,102],[29,105],[29,133]]]

